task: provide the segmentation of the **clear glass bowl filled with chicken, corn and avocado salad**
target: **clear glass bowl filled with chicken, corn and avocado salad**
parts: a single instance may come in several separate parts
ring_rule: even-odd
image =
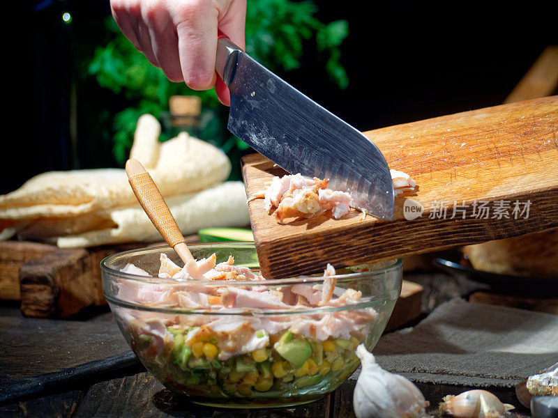
[[[197,260],[215,253],[218,263],[233,256],[234,265],[258,269],[253,243],[212,242],[188,248]],[[156,277],[161,253],[183,265],[169,247],[105,258],[103,291],[122,334],[146,369],[168,389],[202,405],[285,407],[332,392],[359,366],[356,346],[375,346],[401,291],[400,259],[339,269],[328,278],[334,286],[331,302],[319,306],[314,300],[315,306],[309,306],[322,290],[327,293],[322,275],[176,281]],[[128,263],[155,277],[121,272]],[[254,301],[250,295],[255,294]],[[177,307],[179,295],[188,300],[207,297],[215,304]],[[277,297],[282,302],[273,302]],[[234,307],[227,302],[231,298]],[[246,307],[252,302],[258,306]],[[287,303],[296,308],[285,308]]]

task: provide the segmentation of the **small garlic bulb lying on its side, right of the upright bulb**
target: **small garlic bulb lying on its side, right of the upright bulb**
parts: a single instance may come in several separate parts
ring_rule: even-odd
[[[440,410],[455,418],[502,418],[506,411],[514,408],[482,389],[444,396],[442,400]]]

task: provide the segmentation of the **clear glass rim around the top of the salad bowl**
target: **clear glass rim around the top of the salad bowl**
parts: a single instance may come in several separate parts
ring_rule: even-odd
[[[195,247],[254,247],[254,242],[249,241],[226,241],[226,242],[196,242],[194,244],[190,244],[191,246]],[[188,245],[188,246],[190,246]],[[132,281],[140,281],[141,283],[149,283],[149,284],[156,284],[156,283],[183,283],[183,282],[193,282],[192,280],[183,280],[183,279],[165,279],[163,277],[153,277],[153,276],[142,276],[140,274],[131,274],[121,272],[120,270],[115,270],[110,268],[107,263],[112,261],[114,258],[119,256],[125,256],[126,254],[132,254],[137,252],[142,252],[146,250],[156,250],[156,249],[172,249],[169,245],[157,245],[155,247],[142,247],[138,249],[129,249],[127,251],[121,251],[116,254],[111,254],[103,258],[100,262],[101,272],[106,272],[110,274],[112,277],[119,277],[121,279],[132,280]],[[399,270],[402,268],[403,260],[402,258],[393,258],[393,264],[388,265],[383,268],[379,268],[377,270],[367,270],[365,272],[354,272],[354,273],[346,273],[346,274],[335,274],[331,277],[335,280],[341,281],[348,281],[348,280],[355,280],[355,279],[363,279],[368,276],[379,276],[386,272],[391,272],[393,270]],[[323,282],[324,276],[310,276],[310,275],[301,275],[297,277],[287,277],[286,279],[265,279],[264,281],[261,280],[220,280],[219,282],[226,286],[278,286],[282,284],[297,284],[297,283],[313,283],[313,282]],[[212,284],[216,285],[216,281],[214,280],[196,280],[195,283],[199,284]]]

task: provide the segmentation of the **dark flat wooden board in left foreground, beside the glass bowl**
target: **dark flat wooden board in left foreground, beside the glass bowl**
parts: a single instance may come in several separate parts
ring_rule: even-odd
[[[0,341],[0,402],[139,364],[114,321],[0,318]]]

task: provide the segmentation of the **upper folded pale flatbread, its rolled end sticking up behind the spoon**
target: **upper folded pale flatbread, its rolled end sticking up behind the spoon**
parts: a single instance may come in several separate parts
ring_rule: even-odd
[[[159,133],[155,118],[142,116],[130,157],[145,164],[165,198],[197,192],[229,176],[229,159],[215,146],[186,132],[161,144]],[[76,217],[135,202],[123,169],[50,171],[0,196],[0,219]]]

